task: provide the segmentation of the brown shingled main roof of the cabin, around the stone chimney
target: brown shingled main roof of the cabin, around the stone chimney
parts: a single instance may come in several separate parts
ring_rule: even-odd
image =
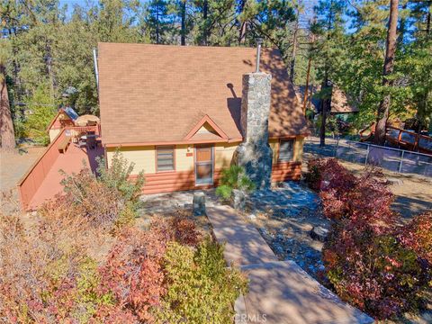
[[[100,43],[103,143],[184,141],[203,114],[229,139],[241,139],[241,80],[255,57],[250,48]],[[273,76],[270,136],[307,133],[277,50],[263,49],[261,70]]]

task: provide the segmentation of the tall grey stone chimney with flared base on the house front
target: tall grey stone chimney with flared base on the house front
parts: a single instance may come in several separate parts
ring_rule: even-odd
[[[271,185],[272,148],[268,145],[272,76],[263,72],[243,75],[240,125],[244,142],[238,146],[236,162],[257,185]]]

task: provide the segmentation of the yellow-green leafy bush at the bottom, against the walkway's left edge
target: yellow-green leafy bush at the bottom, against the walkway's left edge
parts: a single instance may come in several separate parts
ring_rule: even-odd
[[[234,302],[246,293],[247,280],[228,268],[223,246],[206,238],[193,250],[170,243],[166,249],[167,292],[159,320],[170,323],[229,323]]]

